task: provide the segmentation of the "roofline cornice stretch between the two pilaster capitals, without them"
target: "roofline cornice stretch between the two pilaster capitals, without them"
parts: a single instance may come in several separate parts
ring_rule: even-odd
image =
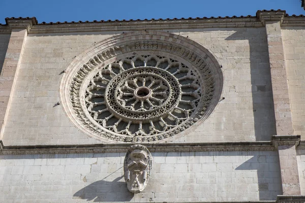
[[[10,33],[7,25],[0,25],[0,33]],[[71,32],[101,32],[112,31],[116,34],[136,30],[195,30],[202,28],[231,28],[231,27],[262,27],[255,17],[247,18],[213,18],[194,20],[162,20],[162,21],[129,21],[129,22],[88,22],[70,24],[37,24],[28,31],[30,34],[39,33],[71,33]]]

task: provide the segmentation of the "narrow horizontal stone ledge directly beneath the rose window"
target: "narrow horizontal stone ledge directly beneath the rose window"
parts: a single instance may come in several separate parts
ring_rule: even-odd
[[[70,154],[70,153],[118,153],[127,152],[133,143],[94,145],[37,145],[4,146],[0,141],[0,154]],[[150,152],[204,152],[204,151],[273,151],[267,142],[236,143],[142,143]]]

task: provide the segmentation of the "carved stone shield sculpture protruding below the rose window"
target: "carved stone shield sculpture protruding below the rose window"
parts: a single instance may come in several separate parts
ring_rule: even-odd
[[[132,145],[124,160],[124,175],[127,188],[132,193],[143,191],[151,170],[151,154],[143,145]]]

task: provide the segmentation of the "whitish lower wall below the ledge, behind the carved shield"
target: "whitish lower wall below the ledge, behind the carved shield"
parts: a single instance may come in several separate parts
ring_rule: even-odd
[[[134,196],[124,181],[125,153],[1,155],[0,201],[257,201],[281,194],[275,151],[151,155],[149,184]]]

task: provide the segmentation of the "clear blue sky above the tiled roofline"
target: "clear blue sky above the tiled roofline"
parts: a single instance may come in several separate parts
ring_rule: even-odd
[[[299,0],[0,0],[0,23],[6,17],[36,17],[38,22],[115,19],[255,16],[257,10],[282,9],[289,15],[303,14]]]

